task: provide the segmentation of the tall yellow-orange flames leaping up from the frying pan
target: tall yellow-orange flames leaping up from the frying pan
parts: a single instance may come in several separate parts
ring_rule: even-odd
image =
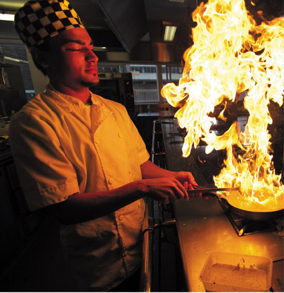
[[[282,209],[284,186],[274,170],[267,126],[272,124],[270,100],[283,104],[284,17],[258,25],[244,0],[202,2],[192,17],[197,26],[192,29],[194,44],[184,53],[182,78],[178,86],[162,88],[169,104],[180,107],[175,117],[187,130],[183,156],[200,140],[207,144],[206,153],[225,149],[227,159],[214,178],[216,186],[239,187],[245,205]],[[217,105],[236,102],[241,93],[249,112],[245,131],[234,122],[216,135],[211,131],[216,118],[209,113]]]

